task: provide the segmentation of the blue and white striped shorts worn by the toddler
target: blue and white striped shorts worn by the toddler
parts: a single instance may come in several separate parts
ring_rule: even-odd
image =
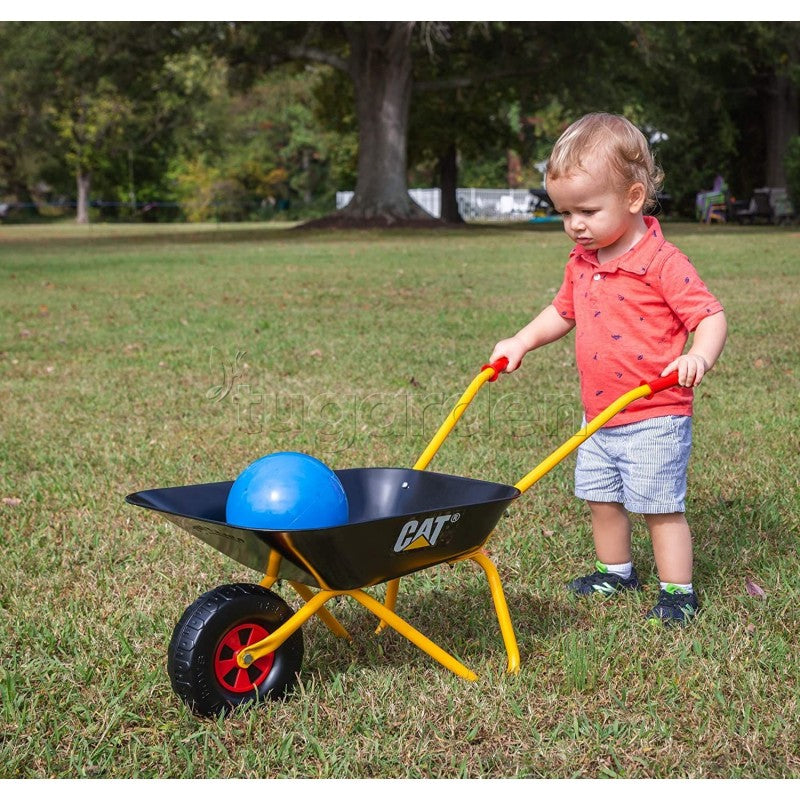
[[[685,511],[691,450],[691,417],[601,428],[578,448],[575,496],[621,503],[634,514]]]

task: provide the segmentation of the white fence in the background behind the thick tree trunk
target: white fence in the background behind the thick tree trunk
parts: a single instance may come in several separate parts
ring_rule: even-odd
[[[408,193],[431,216],[442,215],[439,189],[409,189]],[[336,208],[344,208],[353,192],[336,192]],[[465,220],[520,220],[530,217],[542,202],[527,189],[456,189],[458,210]]]

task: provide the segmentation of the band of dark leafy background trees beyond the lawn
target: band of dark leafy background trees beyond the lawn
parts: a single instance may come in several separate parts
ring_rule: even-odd
[[[673,208],[797,181],[800,25],[0,23],[0,208],[102,219],[424,217],[409,185],[532,188],[582,113],[629,115]],[[796,195],[795,195],[796,196]]]

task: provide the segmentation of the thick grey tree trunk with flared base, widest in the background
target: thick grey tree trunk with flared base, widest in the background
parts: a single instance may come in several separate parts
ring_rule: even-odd
[[[432,217],[408,194],[413,23],[347,26],[358,115],[358,179],[340,216],[391,225]]]

